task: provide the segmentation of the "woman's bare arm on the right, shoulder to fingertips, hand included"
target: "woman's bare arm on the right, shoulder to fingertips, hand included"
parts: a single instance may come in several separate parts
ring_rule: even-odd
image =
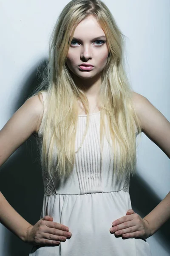
[[[144,96],[133,93],[133,103],[142,131],[170,158],[170,122]],[[129,212],[129,213],[128,213]],[[170,218],[170,192],[143,219],[132,209],[113,221],[111,232],[126,238],[152,236]]]

